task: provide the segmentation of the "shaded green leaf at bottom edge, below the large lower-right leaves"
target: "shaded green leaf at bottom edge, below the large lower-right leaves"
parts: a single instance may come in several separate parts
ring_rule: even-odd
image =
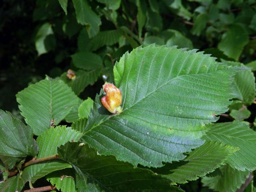
[[[204,177],[202,183],[210,189],[218,192],[235,192],[245,180],[248,178],[250,172],[238,171],[230,166],[222,166],[220,168],[222,175],[216,177]]]

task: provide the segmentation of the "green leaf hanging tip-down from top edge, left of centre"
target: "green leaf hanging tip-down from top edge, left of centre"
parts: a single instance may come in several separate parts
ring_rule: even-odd
[[[76,10],[77,22],[86,26],[89,37],[94,37],[100,31],[100,17],[88,5],[87,0],[72,0]]]

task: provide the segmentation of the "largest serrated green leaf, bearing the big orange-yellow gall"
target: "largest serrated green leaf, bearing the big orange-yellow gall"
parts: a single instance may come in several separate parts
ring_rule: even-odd
[[[182,160],[204,143],[205,124],[228,110],[236,70],[196,50],[151,45],[127,52],[114,67],[123,111],[107,112],[102,91],[82,140],[134,166]]]

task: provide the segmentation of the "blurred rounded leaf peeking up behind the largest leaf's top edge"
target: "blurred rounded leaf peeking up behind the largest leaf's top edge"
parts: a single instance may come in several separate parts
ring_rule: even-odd
[[[168,32],[172,33],[172,37],[167,40],[166,46],[178,46],[179,48],[193,49],[192,41],[186,38],[182,33],[176,30],[168,30]]]

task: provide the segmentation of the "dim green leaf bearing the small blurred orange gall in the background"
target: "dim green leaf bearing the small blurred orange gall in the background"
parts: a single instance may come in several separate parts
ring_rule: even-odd
[[[88,85],[93,85],[98,80],[101,70],[78,70],[74,73],[76,78],[73,78],[72,80],[67,77],[67,73],[63,73],[60,78],[72,88],[75,94],[79,95],[84,88],[86,88]]]

